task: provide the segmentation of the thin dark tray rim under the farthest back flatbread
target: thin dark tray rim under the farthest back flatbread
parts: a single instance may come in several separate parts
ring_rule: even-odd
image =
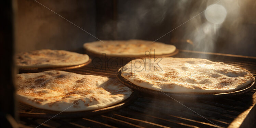
[[[97,53],[93,53],[93,52],[90,52],[88,50],[85,49],[85,53],[90,55],[90,56],[94,56],[94,57],[99,57],[99,58],[102,58],[102,57],[106,57],[106,58],[148,58],[149,56],[146,56],[146,55],[141,55],[141,56],[125,56],[125,57],[121,57],[121,56],[115,56],[115,55],[108,55],[108,54],[105,54],[106,56],[102,56],[102,54],[97,54]],[[172,53],[169,53],[169,54],[163,54],[163,55],[152,55],[151,57],[169,57],[169,56],[173,56],[173,55],[176,55],[179,53],[179,50],[176,49],[174,52]]]

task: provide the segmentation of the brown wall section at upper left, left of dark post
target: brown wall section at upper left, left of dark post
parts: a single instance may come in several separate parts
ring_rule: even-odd
[[[95,35],[93,0],[38,0],[52,11]],[[17,0],[16,51],[80,48],[95,38],[34,0]]]

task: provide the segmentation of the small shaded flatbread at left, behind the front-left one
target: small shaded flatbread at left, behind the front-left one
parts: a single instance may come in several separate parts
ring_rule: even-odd
[[[63,67],[84,64],[89,61],[87,54],[64,50],[36,50],[16,55],[16,65],[20,68]]]

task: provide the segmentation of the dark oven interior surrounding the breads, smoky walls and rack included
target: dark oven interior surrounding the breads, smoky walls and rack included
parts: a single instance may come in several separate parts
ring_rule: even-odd
[[[17,113],[21,106],[15,101],[13,76],[18,71],[13,56],[18,52],[85,53],[85,42],[142,39],[175,45],[179,53],[172,57],[220,61],[256,76],[254,0],[12,0],[1,7],[1,118],[7,122],[3,126],[37,127],[51,118],[26,116],[35,113],[33,108],[26,108],[24,116]],[[214,14],[219,15],[212,18]],[[89,64],[67,71],[116,78],[121,66],[96,72]],[[116,110],[79,118],[56,116],[40,127],[254,127],[255,91],[178,102],[138,93]]]

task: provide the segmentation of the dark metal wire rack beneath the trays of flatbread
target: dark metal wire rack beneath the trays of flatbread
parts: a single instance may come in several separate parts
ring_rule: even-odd
[[[254,77],[256,76],[256,57],[186,50],[180,50],[174,57],[220,61],[241,66],[249,70]],[[115,68],[104,68],[99,72],[95,71],[95,65],[90,63],[84,67],[66,71],[116,78],[116,73],[121,66],[123,65],[117,63]],[[40,127],[239,127],[244,124],[244,119],[248,118],[250,111],[253,110],[256,101],[255,91],[254,88],[242,95],[218,99],[177,99],[178,102],[167,96],[139,93],[133,103],[120,109],[90,117],[52,118]],[[23,127],[37,127],[47,119],[21,117],[20,120]]]

